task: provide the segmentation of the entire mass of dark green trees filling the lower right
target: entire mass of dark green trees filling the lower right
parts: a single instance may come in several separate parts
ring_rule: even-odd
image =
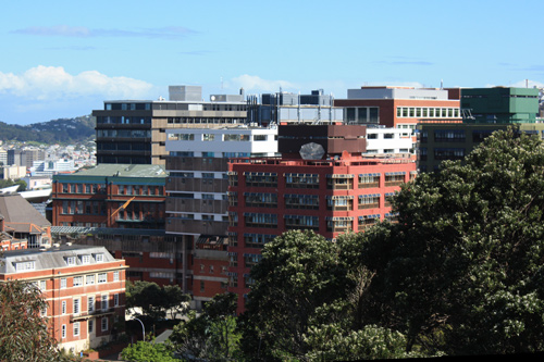
[[[398,223],[268,244],[239,317],[251,359],[544,349],[544,147],[511,127],[404,185]]]

